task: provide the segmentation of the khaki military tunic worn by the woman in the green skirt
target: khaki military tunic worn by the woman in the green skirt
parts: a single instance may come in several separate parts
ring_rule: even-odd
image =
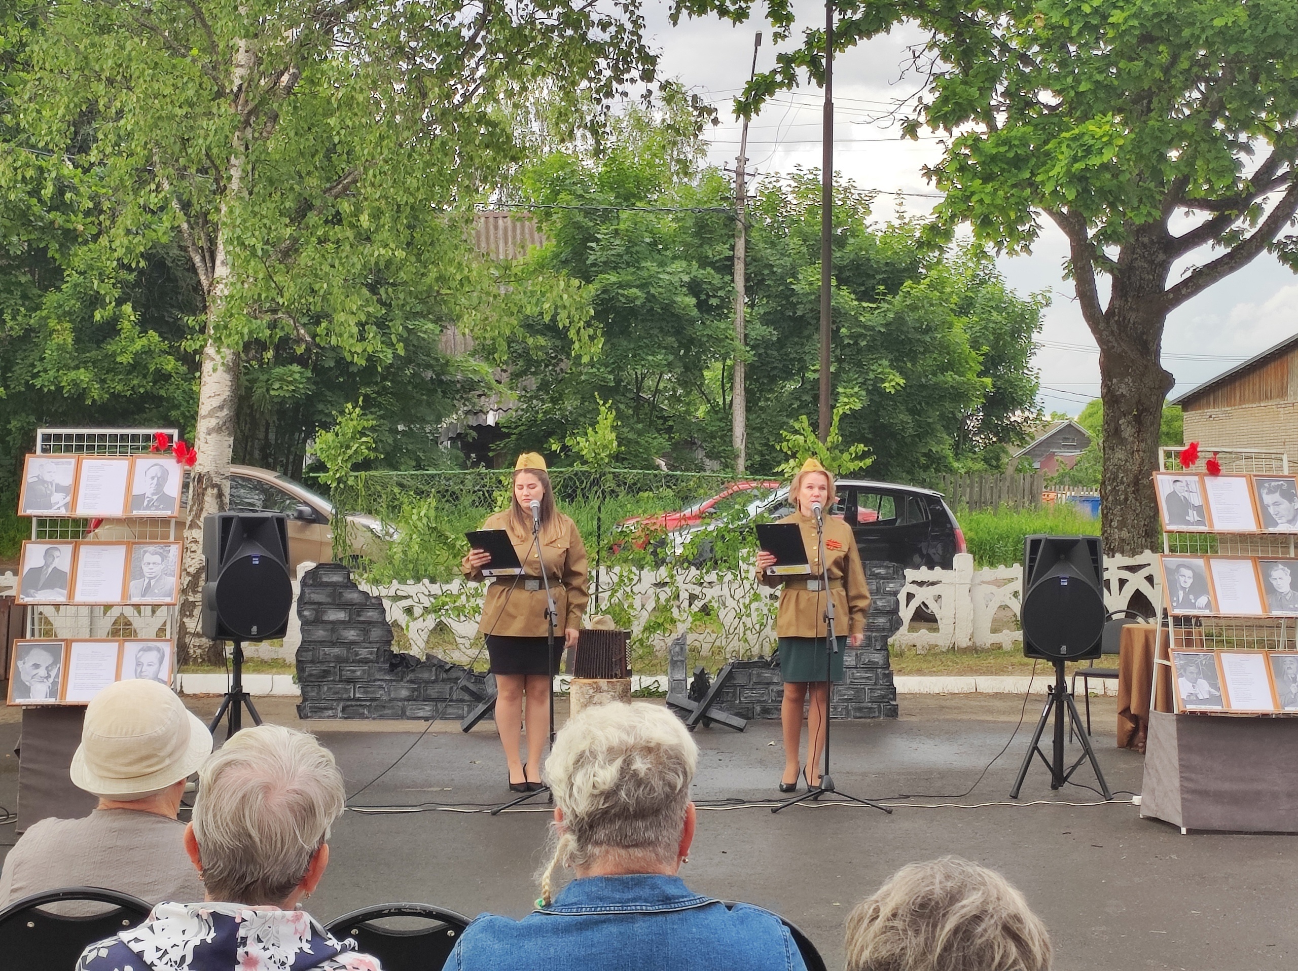
[[[811,576],[768,576],[762,572],[758,582],[766,587],[784,584],[780,593],[780,613],[775,618],[779,637],[824,637],[824,591],[807,589],[807,580],[820,580],[820,549],[816,543],[815,519],[793,513],[781,523],[797,523],[802,531],[802,545],[811,565]],[[866,613],[870,610],[870,589],[866,571],[861,566],[861,550],[851,527],[837,517],[824,518],[824,552],[828,558],[829,592],[833,595],[833,627],[840,637],[866,632]]]

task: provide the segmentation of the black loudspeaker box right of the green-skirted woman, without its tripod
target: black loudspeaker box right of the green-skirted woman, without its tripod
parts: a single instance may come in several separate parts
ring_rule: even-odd
[[[1028,536],[1023,543],[1023,653],[1046,661],[1099,657],[1105,554],[1098,536]]]

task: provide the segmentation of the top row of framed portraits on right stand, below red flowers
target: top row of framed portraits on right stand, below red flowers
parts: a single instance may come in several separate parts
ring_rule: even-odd
[[[1298,532],[1298,476],[1154,473],[1167,532]]]

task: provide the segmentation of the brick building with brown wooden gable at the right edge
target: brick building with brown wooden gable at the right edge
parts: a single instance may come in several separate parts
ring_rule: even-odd
[[[1298,334],[1171,401],[1185,441],[1298,457]]]

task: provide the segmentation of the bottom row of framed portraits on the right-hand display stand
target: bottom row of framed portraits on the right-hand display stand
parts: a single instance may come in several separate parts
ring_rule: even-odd
[[[1169,652],[1176,711],[1298,713],[1298,650]]]

